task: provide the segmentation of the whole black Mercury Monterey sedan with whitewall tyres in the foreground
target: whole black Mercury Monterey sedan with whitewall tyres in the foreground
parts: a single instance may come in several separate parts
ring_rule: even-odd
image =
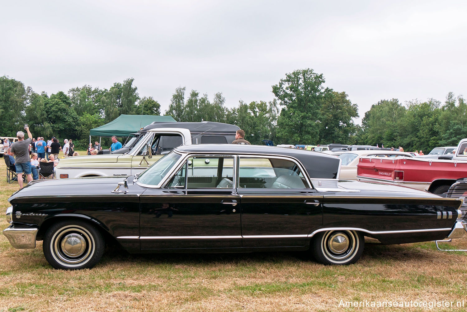
[[[150,157],[150,154],[149,154]],[[138,176],[45,180],[8,201],[15,248],[54,268],[91,268],[116,241],[130,253],[310,250],[359,259],[364,236],[400,244],[463,235],[461,199],[338,181],[340,159],[255,145],[179,146]]]

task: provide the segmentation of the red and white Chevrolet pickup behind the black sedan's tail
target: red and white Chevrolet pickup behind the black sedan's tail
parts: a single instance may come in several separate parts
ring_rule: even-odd
[[[357,165],[361,181],[382,181],[442,194],[460,178],[467,177],[467,138],[462,139],[453,160],[423,158],[363,158]]]

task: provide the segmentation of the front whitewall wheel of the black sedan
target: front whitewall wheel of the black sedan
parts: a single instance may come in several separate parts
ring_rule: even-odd
[[[42,249],[54,268],[92,268],[104,254],[104,237],[93,225],[63,221],[45,233]]]

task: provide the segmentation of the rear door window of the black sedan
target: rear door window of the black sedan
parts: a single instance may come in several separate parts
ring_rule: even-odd
[[[305,189],[308,183],[290,160],[241,157],[239,187],[260,189]]]

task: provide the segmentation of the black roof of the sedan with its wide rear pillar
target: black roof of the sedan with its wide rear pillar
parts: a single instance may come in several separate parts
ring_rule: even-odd
[[[340,159],[331,155],[326,155],[321,152],[268,145],[193,144],[178,146],[174,151],[199,154],[219,153],[287,156],[297,159],[304,166],[310,178],[319,179],[336,179],[340,168]],[[319,166],[317,166],[317,164],[319,164]]]

